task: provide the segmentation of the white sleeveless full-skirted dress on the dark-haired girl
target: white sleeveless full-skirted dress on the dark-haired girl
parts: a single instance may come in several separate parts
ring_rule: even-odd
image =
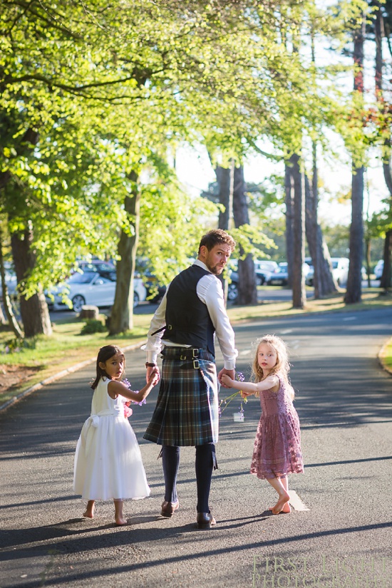
[[[86,500],[150,495],[138,440],[124,416],[123,396],[108,395],[108,378],[93,394],[91,416],[76,445],[73,490]]]

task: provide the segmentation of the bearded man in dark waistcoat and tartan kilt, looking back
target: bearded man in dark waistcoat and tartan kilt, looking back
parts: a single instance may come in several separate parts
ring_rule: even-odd
[[[196,448],[197,526],[210,528],[215,518],[208,499],[212,470],[217,468],[215,443],[219,414],[217,377],[234,378],[237,349],[225,309],[222,274],[234,250],[232,237],[215,229],[202,237],[195,263],[171,282],[148,332],[147,378],[162,353],[163,373],[158,401],[144,438],[162,445],[165,500],[161,515],[179,507],[177,473],[180,446]],[[217,376],[215,335],[224,357]],[[163,349],[162,349],[163,347]]]

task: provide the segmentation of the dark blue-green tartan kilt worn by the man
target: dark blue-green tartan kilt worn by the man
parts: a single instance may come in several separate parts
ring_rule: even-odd
[[[181,350],[187,359],[180,359]],[[189,348],[163,349],[162,378],[153,418],[143,437],[158,445],[216,443],[219,430],[214,357],[199,350],[198,368]],[[182,356],[183,357],[183,356]]]

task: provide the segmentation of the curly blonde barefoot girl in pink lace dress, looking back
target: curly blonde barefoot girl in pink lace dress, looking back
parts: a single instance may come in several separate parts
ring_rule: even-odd
[[[250,472],[267,480],[277,490],[272,510],[290,512],[287,474],[303,473],[299,418],[293,406],[294,390],[289,382],[287,346],[275,335],[259,339],[252,372],[254,382],[234,381],[225,374],[222,383],[242,391],[242,397],[260,397],[262,416],[257,427]]]

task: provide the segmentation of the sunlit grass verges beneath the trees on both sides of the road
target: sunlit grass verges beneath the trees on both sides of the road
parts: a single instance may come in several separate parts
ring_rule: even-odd
[[[235,325],[242,321],[263,318],[331,311],[362,311],[390,305],[391,294],[384,295],[380,289],[369,289],[363,293],[361,303],[349,306],[344,304],[343,296],[338,295],[324,300],[309,300],[306,302],[305,309],[293,309],[289,301],[274,303],[265,301],[256,306],[231,306],[228,309],[228,314],[232,324]],[[111,338],[108,338],[108,334],[105,332],[81,335],[81,329],[85,323],[76,317],[57,321],[56,324],[53,324],[53,336],[36,337],[26,341],[25,344],[19,344],[16,349],[13,349],[15,344],[12,342],[14,339],[12,334],[3,328],[0,331],[0,349],[2,350],[0,370],[2,368],[6,373],[12,366],[14,370],[19,370],[21,373],[26,371],[26,376],[26,368],[30,368],[30,372],[33,373],[28,373],[28,378],[25,381],[16,383],[11,388],[3,386],[3,393],[0,388],[0,406],[33,384],[70,368],[76,363],[95,358],[97,350],[105,344],[115,342],[122,347],[142,344],[145,341],[145,334],[148,331],[151,318],[152,314],[135,314],[133,331]],[[9,352],[6,353],[7,344]],[[392,341],[389,346],[384,347],[383,363],[389,366],[392,371]]]

